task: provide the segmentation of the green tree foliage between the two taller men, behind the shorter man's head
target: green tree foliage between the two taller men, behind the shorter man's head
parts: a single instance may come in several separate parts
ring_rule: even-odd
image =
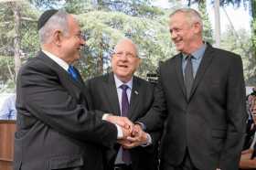
[[[84,60],[86,71],[99,75],[109,70],[111,52],[122,37],[130,37],[138,45],[139,56],[144,59],[138,74],[145,76],[155,71],[158,61],[172,56],[170,37],[161,19],[146,19],[128,16],[120,12],[91,11],[79,15],[82,29],[89,35]],[[82,65],[84,67],[84,65]],[[97,68],[97,69],[95,69]],[[90,75],[86,75],[88,77]]]

